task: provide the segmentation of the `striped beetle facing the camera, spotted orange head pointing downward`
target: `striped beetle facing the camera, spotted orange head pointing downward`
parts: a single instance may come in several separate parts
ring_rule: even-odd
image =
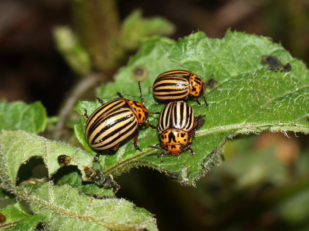
[[[194,110],[188,103],[170,102],[161,111],[157,125],[160,144],[164,149],[157,146],[147,146],[147,148],[162,150],[163,152],[158,157],[166,153],[179,156],[181,152],[184,152],[184,148],[194,155],[190,148],[192,138],[195,130],[201,128],[204,121],[202,115],[194,117]]]

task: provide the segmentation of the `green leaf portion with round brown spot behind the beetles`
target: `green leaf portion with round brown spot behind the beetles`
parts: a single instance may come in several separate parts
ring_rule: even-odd
[[[127,95],[139,96],[138,80],[142,81],[143,94],[148,94],[149,87],[152,86],[159,73],[170,68],[181,68],[179,64],[172,62],[157,45],[157,43],[163,42],[175,43],[171,39],[160,37],[143,40],[137,55],[129,60],[127,66],[120,69],[114,78],[115,81],[97,88],[97,96],[99,98],[110,98],[111,95],[116,95],[117,91]]]

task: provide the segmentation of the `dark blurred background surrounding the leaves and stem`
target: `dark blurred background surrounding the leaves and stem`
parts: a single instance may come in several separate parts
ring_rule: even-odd
[[[137,8],[144,17],[163,16],[176,26],[175,40],[197,30],[222,38],[231,28],[270,37],[293,57],[309,60],[305,0],[116,3],[121,21]],[[40,100],[49,116],[57,115],[79,77],[57,51],[52,31],[74,29],[73,18],[70,1],[0,1],[0,99]],[[241,138],[227,142],[226,160],[196,188],[134,168],[116,178],[122,187],[117,196],[156,214],[160,230],[309,230],[308,137],[265,132]]]

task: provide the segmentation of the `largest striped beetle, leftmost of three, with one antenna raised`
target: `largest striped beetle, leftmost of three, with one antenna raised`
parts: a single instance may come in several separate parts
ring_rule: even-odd
[[[142,103],[131,99],[125,99],[119,92],[120,98],[112,99],[97,108],[88,118],[87,111],[84,117],[87,122],[85,125],[86,140],[88,144],[96,150],[116,151],[119,144],[135,133],[133,145],[136,151],[141,151],[137,145],[138,131],[141,126],[155,126],[145,123],[149,112],[144,106],[142,96],[141,83],[138,81],[138,87],[142,99]],[[159,113],[159,112],[158,112]],[[99,153],[95,156],[95,160],[99,157]]]

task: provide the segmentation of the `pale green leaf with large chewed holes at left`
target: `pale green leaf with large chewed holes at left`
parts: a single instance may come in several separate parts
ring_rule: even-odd
[[[1,182],[6,189],[13,190],[19,167],[33,156],[41,157],[44,160],[49,177],[51,177],[61,168],[57,161],[60,155],[70,156],[71,160],[68,165],[78,166],[83,180],[88,180],[84,168],[92,166],[93,156],[90,153],[27,132],[2,131],[0,135]]]

